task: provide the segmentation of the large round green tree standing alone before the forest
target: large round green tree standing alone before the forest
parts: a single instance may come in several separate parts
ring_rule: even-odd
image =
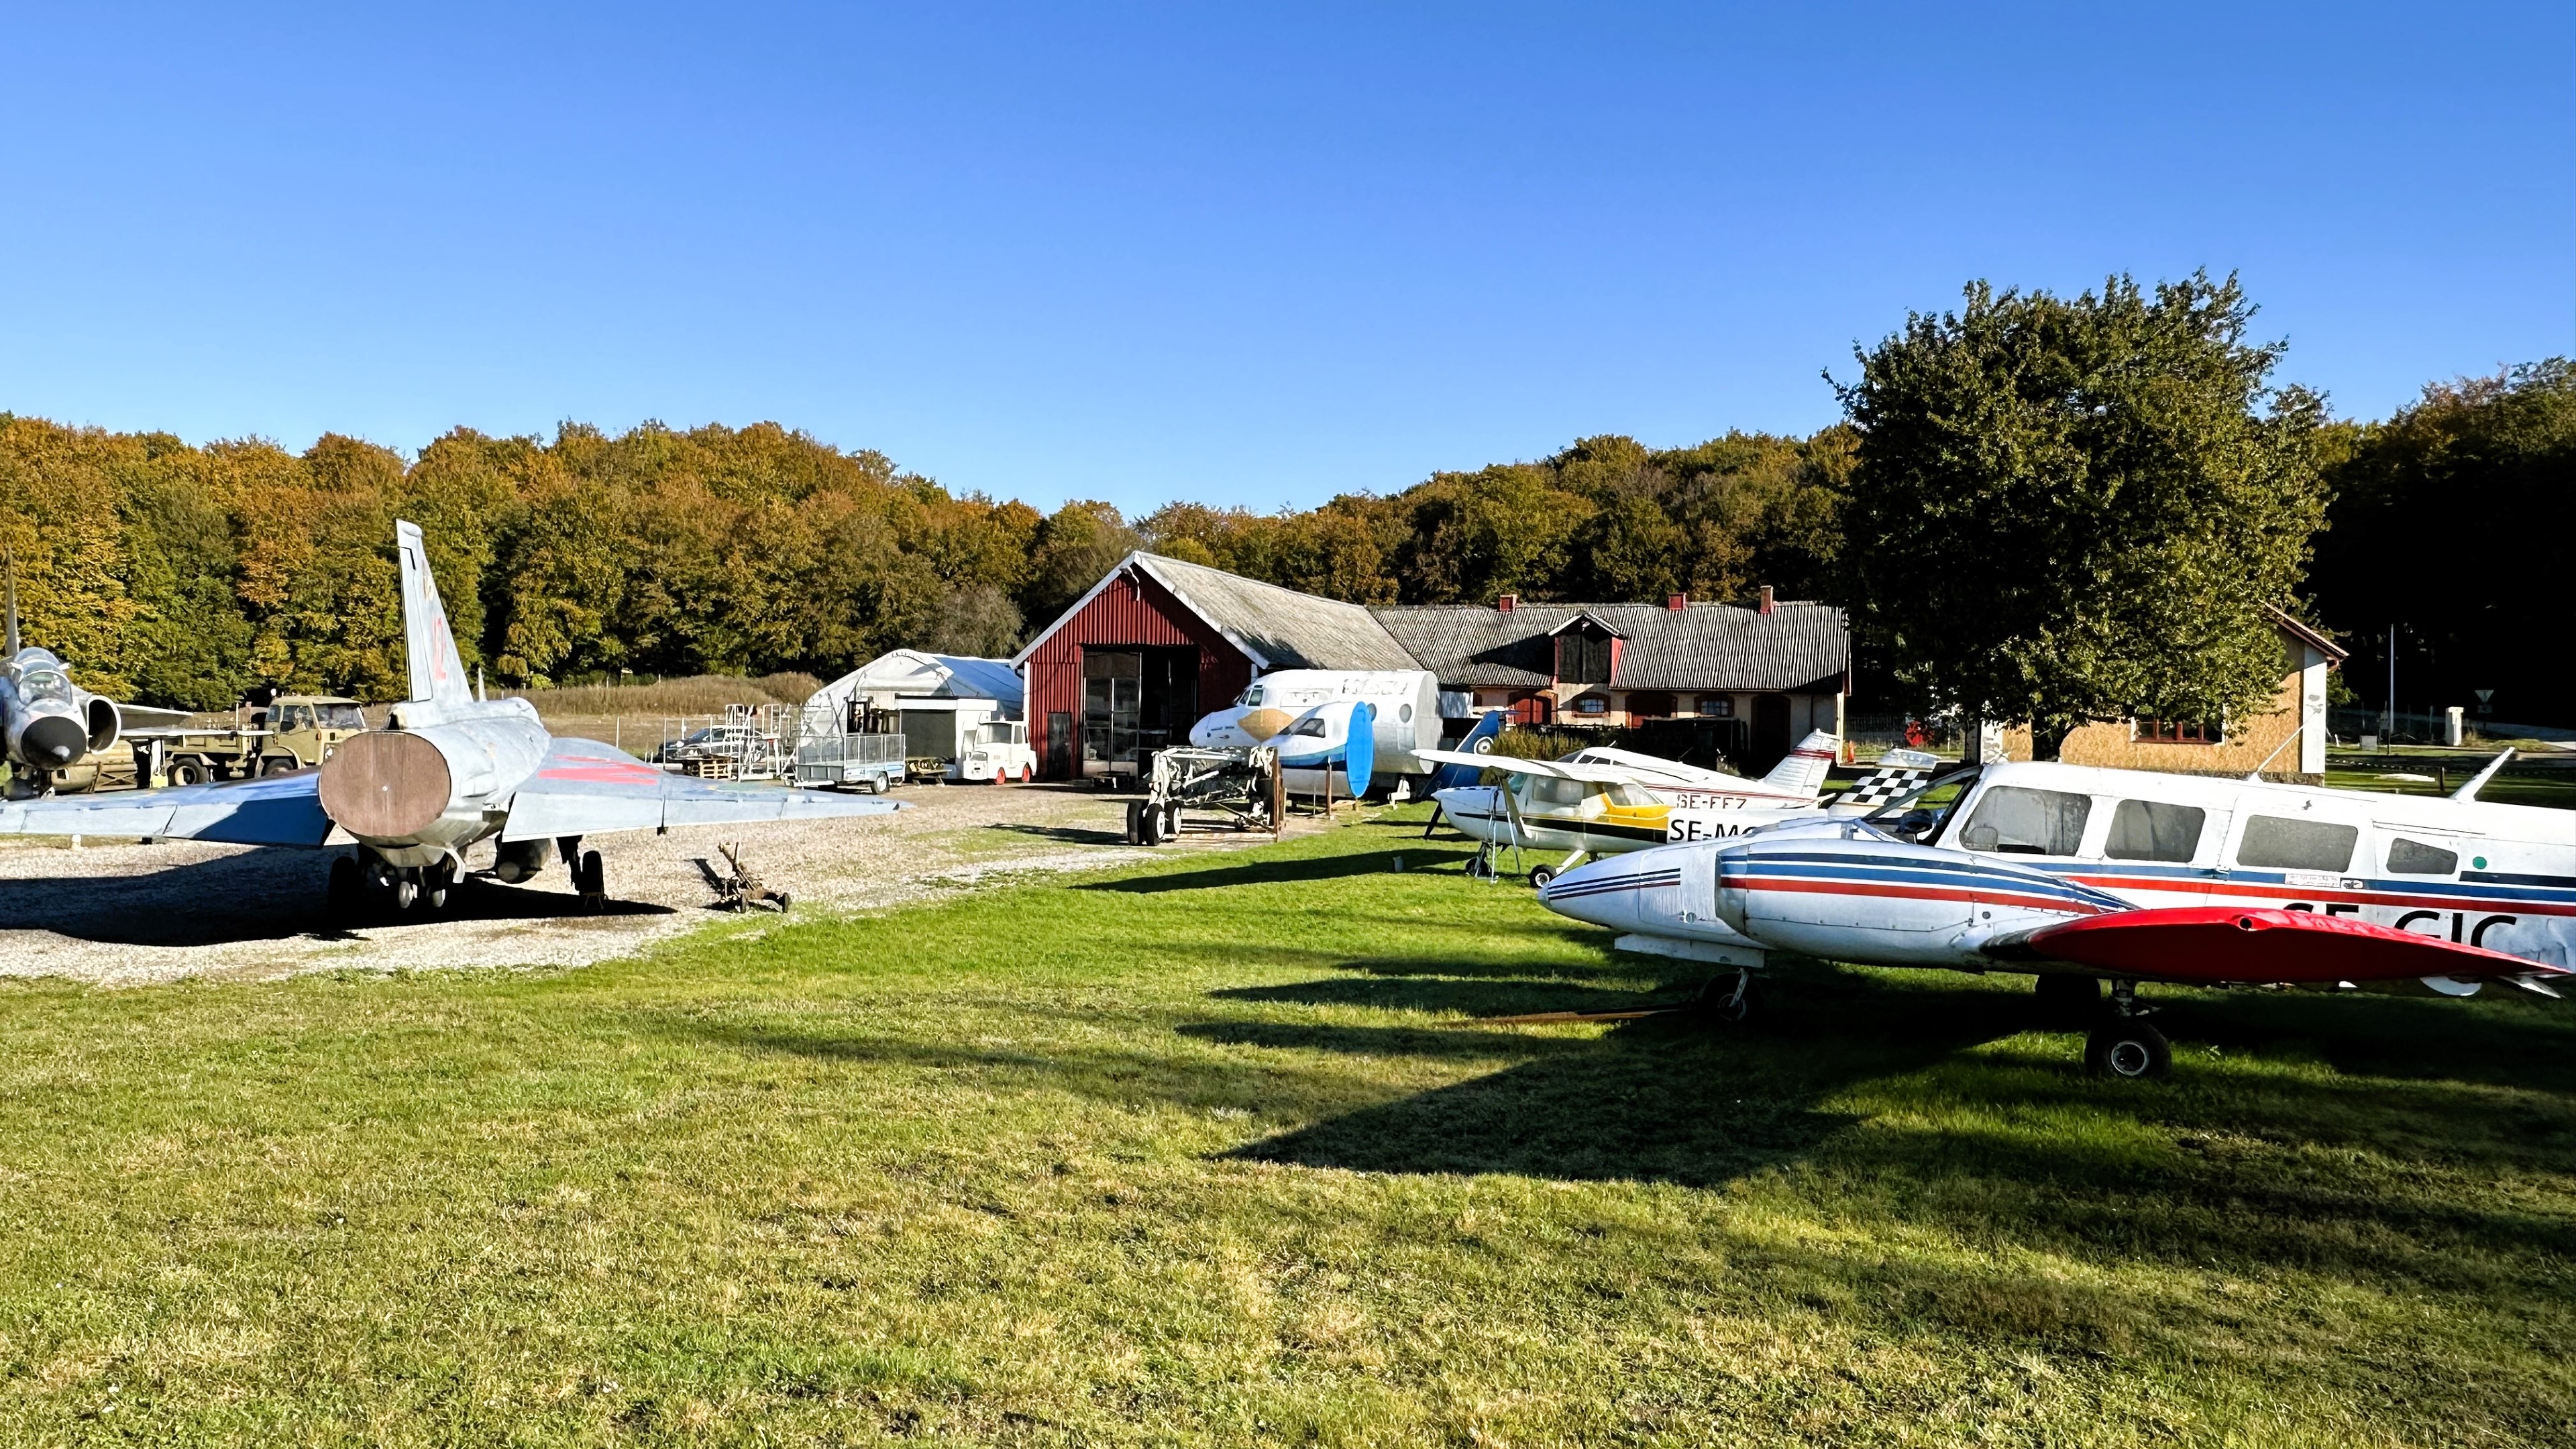
[[[2275,387],[2236,278],[2099,294],[1968,286],[1839,387],[1857,431],[1844,567],[1911,704],[2030,722],[2267,704],[2324,523],[2324,405]]]

